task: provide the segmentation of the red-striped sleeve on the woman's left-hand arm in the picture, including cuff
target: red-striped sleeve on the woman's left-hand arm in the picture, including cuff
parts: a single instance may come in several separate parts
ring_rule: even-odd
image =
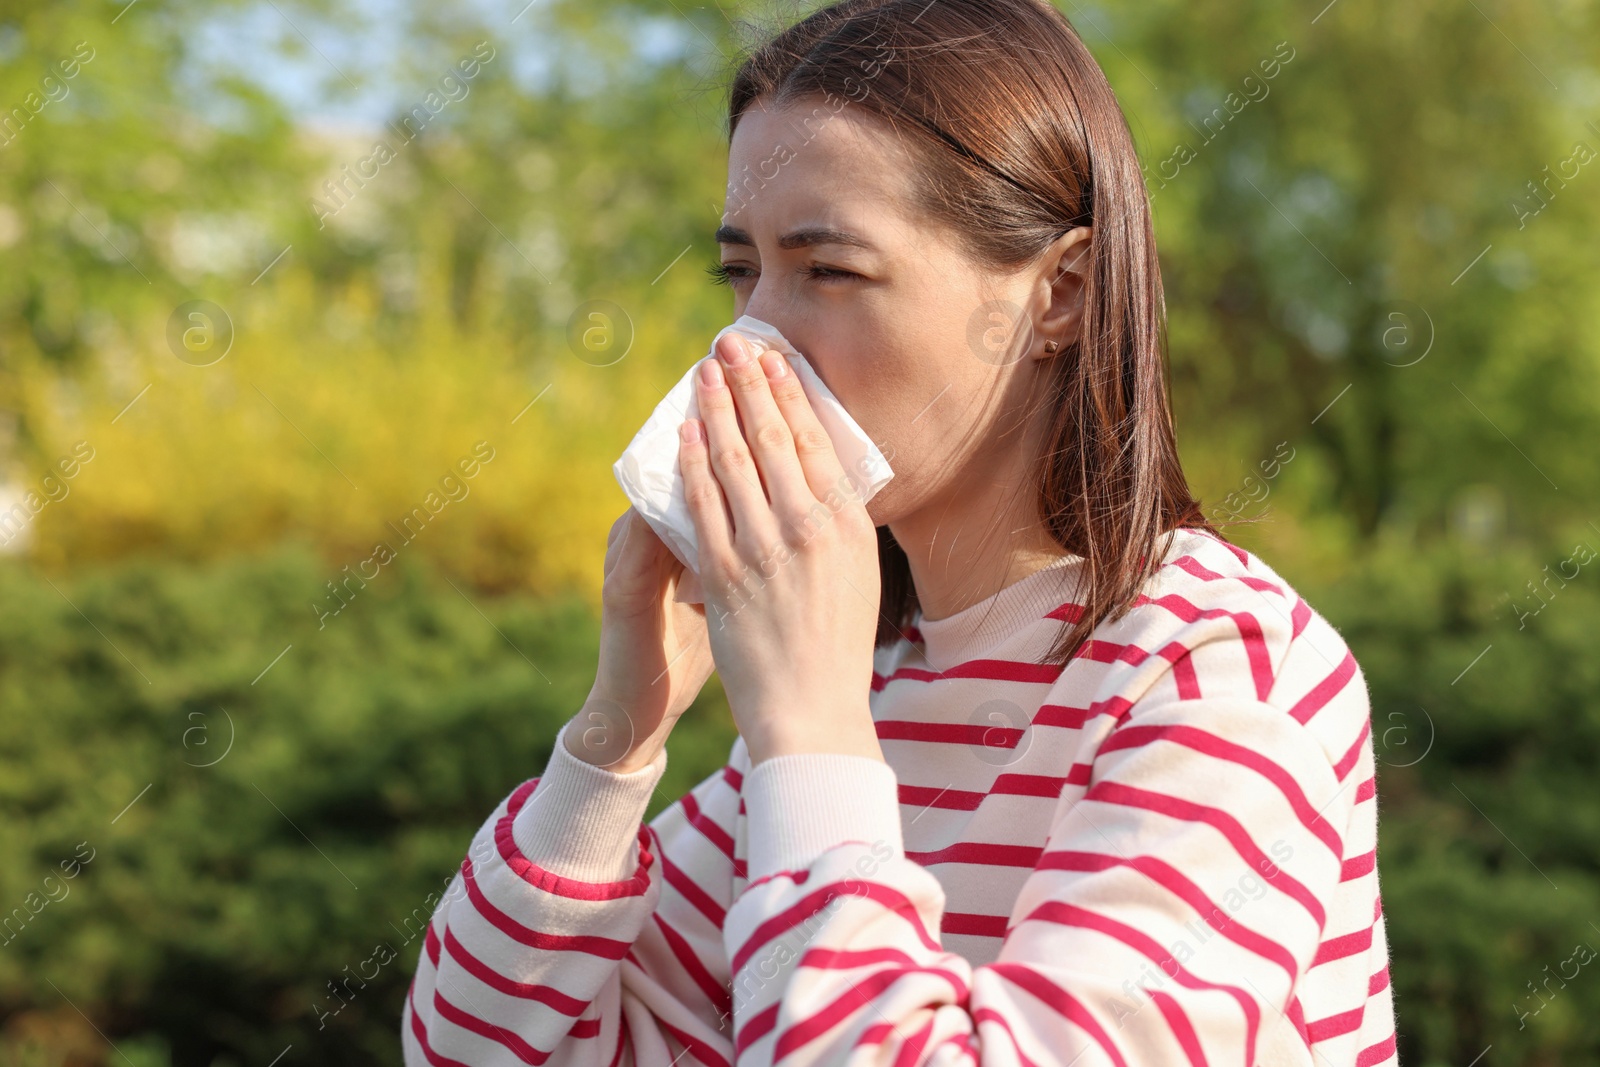
[[[571,755],[570,728],[434,910],[402,1013],[406,1067],[730,1062],[715,990],[733,862],[702,827],[733,824],[738,790],[714,774],[640,825],[666,753],[618,774]]]

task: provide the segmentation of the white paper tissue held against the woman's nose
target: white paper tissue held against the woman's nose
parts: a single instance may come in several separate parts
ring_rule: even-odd
[[[736,331],[784,354],[816,411],[818,422],[834,442],[840,467],[846,475],[853,475],[840,486],[840,493],[859,491],[862,501],[870,501],[894,477],[894,472],[890,470],[878,446],[850,418],[850,413],[818,378],[805,357],[768,323],[741,315],[717,331],[706,358],[715,358],[717,341],[728,331]],[[699,418],[694,374],[699,371],[701,362],[696,360],[694,366],[678,379],[672,392],[656,405],[643,429],[634,435],[622,456],[611,464],[611,472],[634,509],[645,517],[651,530],[683,563],[686,573],[677,595],[682,603],[704,603],[699,585],[699,537],[694,534],[694,520],[690,517],[688,499],[683,494],[683,472],[678,469],[678,426],[685,419]]]

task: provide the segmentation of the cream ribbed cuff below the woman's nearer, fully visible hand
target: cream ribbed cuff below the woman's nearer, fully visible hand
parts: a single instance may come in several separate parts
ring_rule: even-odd
[[[749,878],[805,870],[843,841],[904,853],[894,769],[862,755],[805,752],[762,760],[744,776]]]

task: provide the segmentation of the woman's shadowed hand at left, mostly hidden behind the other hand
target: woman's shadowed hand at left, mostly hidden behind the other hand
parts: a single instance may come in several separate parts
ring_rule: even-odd
[[[566,731],[566,749],[579,760],[624,774],[648,765],[710,677],[706,608],[674,598],[685,573],[635,509],[611,523],[600,667]]]

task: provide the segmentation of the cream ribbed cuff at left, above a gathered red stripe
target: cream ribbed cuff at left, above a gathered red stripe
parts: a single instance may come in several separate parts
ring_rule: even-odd
[[[638,824],[667,769],[667,750],[629,774],[584,763],[566,750],[571,720],[528,803],[512,821],[522,854],[574,881],[621,881],[634,873]]]

